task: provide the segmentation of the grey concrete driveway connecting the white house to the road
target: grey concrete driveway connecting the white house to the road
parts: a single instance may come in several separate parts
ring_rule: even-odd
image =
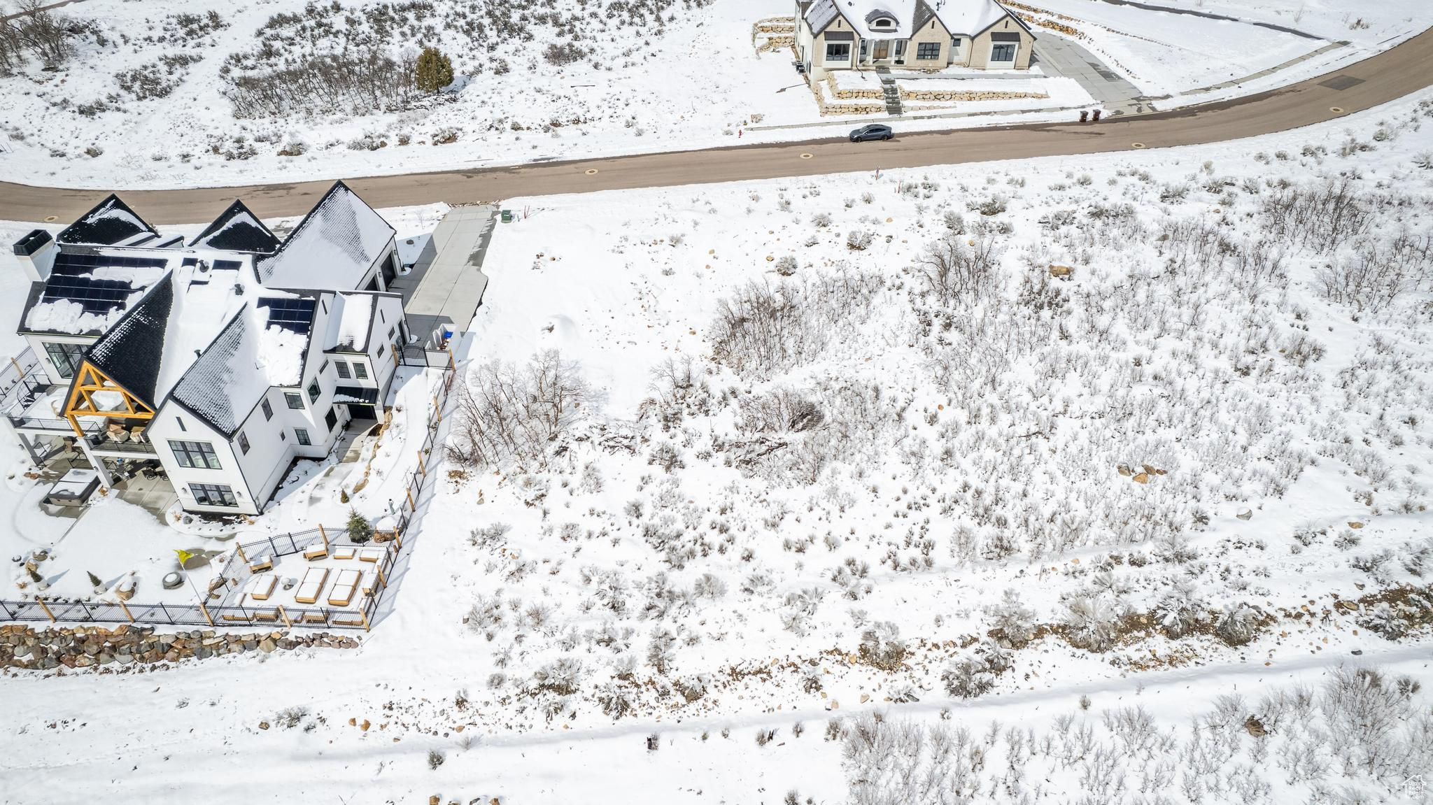
[[[443,327],[467,329],[487,288],[483,256],[496,222],[492,205],[457,206],[443,216],[413,271],[391,284],[403,294],[408,332],[427,342]]]

